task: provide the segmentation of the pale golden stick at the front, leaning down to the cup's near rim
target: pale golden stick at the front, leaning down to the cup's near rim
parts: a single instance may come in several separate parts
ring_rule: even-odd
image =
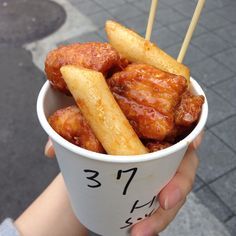
[[[146,148],[116,103],[102,73],[63,66],[62,76],[96,137],[110,155],[138,155]]]

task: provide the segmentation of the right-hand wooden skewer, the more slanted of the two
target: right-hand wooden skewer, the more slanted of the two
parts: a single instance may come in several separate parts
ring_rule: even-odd
[[[194,30],[196,28],[196,25],[198,23],[198,20],[199,20],[200,14],[202,12],[202,9],[204,7],[204,4],[205,4],[205,0],[198,0],[196,9],[194,11],[192,20],[190,22],[189,28],[187,30],[185,39],[183,41],[182,47],[180,49],[180,52],[179,52],[179,55],[178,55],[178,58],[177,58],[177,61],[180,62],[180,63],[182,63],[183,60],[184,60],[185,54],[188,50],[189,43],[190,43],[191,38],[193,36],[193,32],[194,32]]]

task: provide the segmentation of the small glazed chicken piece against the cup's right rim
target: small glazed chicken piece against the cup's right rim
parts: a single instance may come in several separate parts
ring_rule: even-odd
[[[189,91],[186,91],[175,112],[176,125],[189,127],[198,121],[203,103],[204,96],[193,95]]]

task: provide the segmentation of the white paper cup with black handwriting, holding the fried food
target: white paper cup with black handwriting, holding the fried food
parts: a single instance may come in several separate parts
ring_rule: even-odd
[[[193,79],[191,89],[204,95]],[[59,136],[47,117],[73,103],[72,98],[52,89],[47,81],[38,96],[37,113],[54,144],[74,213],[82,224],[97,234],[127,235],[134,223],[158,208],[158,193],[174,176],[188,145],[204,128],[207,100],[197,126],[186,138],[164,150],[136,156],[91,152]]]

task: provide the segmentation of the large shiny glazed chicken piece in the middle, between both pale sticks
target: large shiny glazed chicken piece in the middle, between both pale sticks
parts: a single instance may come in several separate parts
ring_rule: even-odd
[[[175,107],[187,88],[184,77],[146,64],[130,64],[107,82],[140,138],[161,141],[172,131]]]

